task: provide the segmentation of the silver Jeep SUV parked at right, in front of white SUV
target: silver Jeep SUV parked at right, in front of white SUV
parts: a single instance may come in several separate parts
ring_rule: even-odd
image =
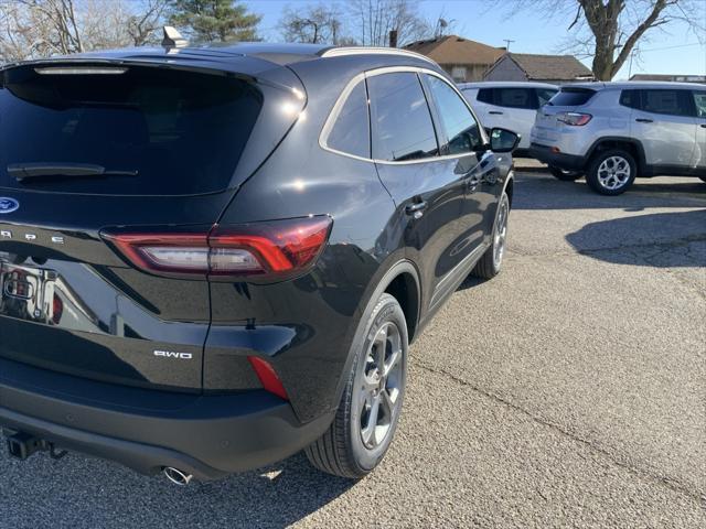
[[[637,176],[698,176],[706,182],[706,85],[568,85],[537,111],[531,154],[559,180],[603,195]]]

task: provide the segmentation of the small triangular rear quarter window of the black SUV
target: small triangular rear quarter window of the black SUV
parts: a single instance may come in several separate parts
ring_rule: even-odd
[[[353,87],[333,118],[335,121],[327,138],[327,147],[355,156],[371,158],[371,126],[364,80]]]

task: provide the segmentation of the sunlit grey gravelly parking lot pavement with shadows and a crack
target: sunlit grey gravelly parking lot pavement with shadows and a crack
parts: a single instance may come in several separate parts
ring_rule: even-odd
[[[518,174],[505,270],[413,347],[361,483],[297,455],[186,488],[0,454],[0,527],[706,527],[706,184]]]

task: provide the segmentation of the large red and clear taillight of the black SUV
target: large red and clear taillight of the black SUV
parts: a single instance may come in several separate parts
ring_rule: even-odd
[[[161,276],[285,279],[308,269],[329,238],[331,218],[310,216],[207,233],[104,233],[136,267]]]

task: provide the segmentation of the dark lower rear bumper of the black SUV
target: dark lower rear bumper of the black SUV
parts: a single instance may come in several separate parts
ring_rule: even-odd
[[[301,424],[266,391],[169,393],[0,360],[0,427],[147,475],[173,466],[210,481],[268,465],[309,445],[332,419]]]

